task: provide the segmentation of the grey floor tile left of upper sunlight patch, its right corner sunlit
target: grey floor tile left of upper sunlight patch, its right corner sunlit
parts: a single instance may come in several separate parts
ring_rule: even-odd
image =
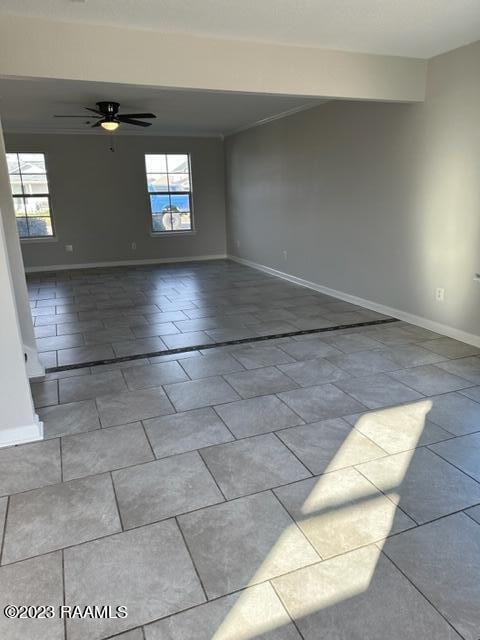
[[[385,455],[341,418],[285,429],[277,435],[315,475]]]

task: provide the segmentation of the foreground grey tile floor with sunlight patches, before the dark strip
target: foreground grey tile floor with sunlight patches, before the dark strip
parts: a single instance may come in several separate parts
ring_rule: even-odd
[[[267,280],[228,263],[152,271],[198,276],[194,302],[159,294],[155,326],[188,323],[177,336],[205,330],[188,320],[212,317],[200,298],[231,309],[232,291],[208,291],[217,276],[264,325],[363,313],[271,278],[259,312]],[[126,274],[130,296],[144,275]],[[95,273],[73,277],[60,284],[105,295]],[[147,326],[157,303],[139,295]],[[106,335],[108,316],[71,304],[57,336]],[[128,617],[0,616],[2,640],[478,640],[479,350],[398,322],[182,355],[32,385],[46,439],[0,450],[1,608]]]

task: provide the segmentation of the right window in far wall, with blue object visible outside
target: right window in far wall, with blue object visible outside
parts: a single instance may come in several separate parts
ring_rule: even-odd
[[[154,233],[192,231],[192,180],[188,154],[145,155]]]

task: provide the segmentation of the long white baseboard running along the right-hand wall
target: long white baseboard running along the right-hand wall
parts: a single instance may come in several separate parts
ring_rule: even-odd
[[[440,333],[444,336],[448,336],[449,338],[453,338],[454,340],[460,340],[461,342],[466,342],[467,344],[471,344],[474,347],[480,348],[480,336],[477,336],[473,333],[467,333],[466,331],[461,331],[460,329],[456,329],[455,327],[450,327],[449,325],[441,324],[440,322],[435,322],[434,320],[429,320],[428,318],[423,318],[422,316],[416,316],[412,313],[407,313],[406,311],[402,311],[401,309],[387,307],[384,304],[379,304],[378,302],[373,302],[372,300],[359,298],[358,296],[353,296],[350,293],[345,293],[344,291],[330,289],[330,287],[325,287],[322,284],[310,282],[309,280],[304,280],[303,278],[297,278],[296,276],[292,276],[289,273],[284,273],[283,271],[272,269],[271,267],[267,267],[263,264],[258,264],[257,262],[252,262],[251,260],[246,260],[245,258],[228,255],[228,259],[240,264],[244,264],[247,267],[252,267],[253,269],[258,269],[259,271],[264,271],[265,273],[269,273],[272,276],[277,276],[277,278],[288,280],[289,282],[298,284],[301,287],[307,287],[308,289],[313,289],[314,291],[318,291],[319,293],[325,293],[326,295],[332,296],[333,298],[338,298],[339,300],[344,300],[345,302],[351,302],[352,304],[356,304],[359,307],[365,307],[366,309],[371,309],[372,311],[377,311],[378,313],[383,313],[384,315],[398,318],[399,320],[403,320],[404,322],[423,327],[424,329],[429,329],[430,331],[435,331],[435,333]]]

